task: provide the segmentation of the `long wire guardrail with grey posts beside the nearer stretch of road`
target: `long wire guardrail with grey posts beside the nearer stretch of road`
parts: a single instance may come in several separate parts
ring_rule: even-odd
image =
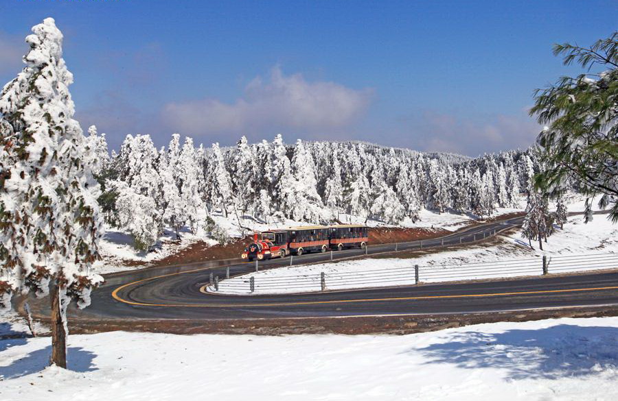
[[[398,285],[421,284],[425,282],[446,282],[481,280],[517,276],[542,276],[592,269],[618,268],[618,254],[588,254],[573,256],[542,256],[538,258],[499,260],[493,262],[409,265],[393,269],[372,269],[342,271],[339,273],[319,272],[293,276],[255,277],[245,274],[225,280],[213,280],[209,291],[231,293],[254,293],[282,290],[289,292],[327,291],[394,287]]]

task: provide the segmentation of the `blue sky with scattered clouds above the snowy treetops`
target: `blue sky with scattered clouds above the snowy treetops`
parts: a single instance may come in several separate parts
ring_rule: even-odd
[[[76,117],[197,143],[363,140],[476,156],[525,147],[532,90],[573,75],[555,42],[617,29],[617,1],[0,0],[0,80],[47,16]]]

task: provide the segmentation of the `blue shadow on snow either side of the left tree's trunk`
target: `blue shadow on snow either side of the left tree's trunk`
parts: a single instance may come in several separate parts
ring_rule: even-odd
[[[25,340],[24,340],[25,343]],[[18,345],[18,344],[14,344]],[[21,344],[19,344],[21,345]],[[12,346],[12,345],[11,345]],[[13,361],[8,366],[0,366],[0,378],[10,379],[19,378],[28,374],[41,372],[49,366],[49,357],[52,355],[52,345],[30,352],[21,359]],[[93,352],[84,350],[80,347],[67,349],[67,367],[73,372],[91,372],[97,370],[92,361],[95,359]]]

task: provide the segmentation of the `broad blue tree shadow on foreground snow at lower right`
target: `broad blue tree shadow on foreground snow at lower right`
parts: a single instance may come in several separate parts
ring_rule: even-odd
[[[586,376],[618,365],[618,328],[562,324],[538,330],[454,333],[448,343],[429,345],[420,352],[431,361],[464,369],[507,369],[507,379],[557,379]]]

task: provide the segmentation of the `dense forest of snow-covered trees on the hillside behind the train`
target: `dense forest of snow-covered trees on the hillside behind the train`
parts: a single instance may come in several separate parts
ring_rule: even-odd
[[[416,221],[422,208],[492,215],[517,208],[531,184],[534,148],[479,158],[362,142],[272,142],[196,147],[173,134],[157,149],[149,135],[128,135],[119,152],[90,127],[88,141],[101,161],[99,201],[111,226],[129,232],[137,249],[154,245],[163,227],[227,233],[210,216],[273,223],[347,223],[350,216],[397,224]]]

